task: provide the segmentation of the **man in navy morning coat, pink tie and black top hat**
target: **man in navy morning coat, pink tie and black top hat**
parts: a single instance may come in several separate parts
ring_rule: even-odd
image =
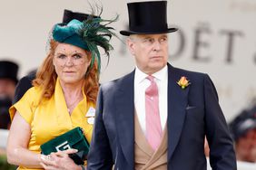
[[[136,68],[99,91],[88,169],[236,169],[229,130],[207,74],[168,62],[166,1],[128,4]]]

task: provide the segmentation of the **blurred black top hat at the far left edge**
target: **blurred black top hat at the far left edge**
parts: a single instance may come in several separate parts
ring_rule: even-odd
[[[18,65],[13,61],[0,61],[0,79],[10,79],[17,83],[18,69]]]

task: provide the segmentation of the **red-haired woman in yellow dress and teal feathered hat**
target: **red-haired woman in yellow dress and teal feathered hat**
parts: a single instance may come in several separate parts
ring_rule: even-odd
[[[100,56],[108,54],[110,27],[100,17],[84,22],[56,24],[50,52],[36,73],[34,87],[11,107],[13,123],[7,143],[7,158],[18,169],[84,169],[68,156],[75,149],[41,155],[40,146],[74,127],[82,127],[90,142],[98,91]]]

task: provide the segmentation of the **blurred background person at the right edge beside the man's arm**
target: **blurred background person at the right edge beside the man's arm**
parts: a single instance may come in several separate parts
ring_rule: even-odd
[[[230,128],[237,159],[256,163],[256,107],[243,110],[231,121]]]

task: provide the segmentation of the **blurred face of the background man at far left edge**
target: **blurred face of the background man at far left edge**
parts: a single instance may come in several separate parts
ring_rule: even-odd
[[[0,98],[14,99],[15,81],[10,79],[0,79]]]

